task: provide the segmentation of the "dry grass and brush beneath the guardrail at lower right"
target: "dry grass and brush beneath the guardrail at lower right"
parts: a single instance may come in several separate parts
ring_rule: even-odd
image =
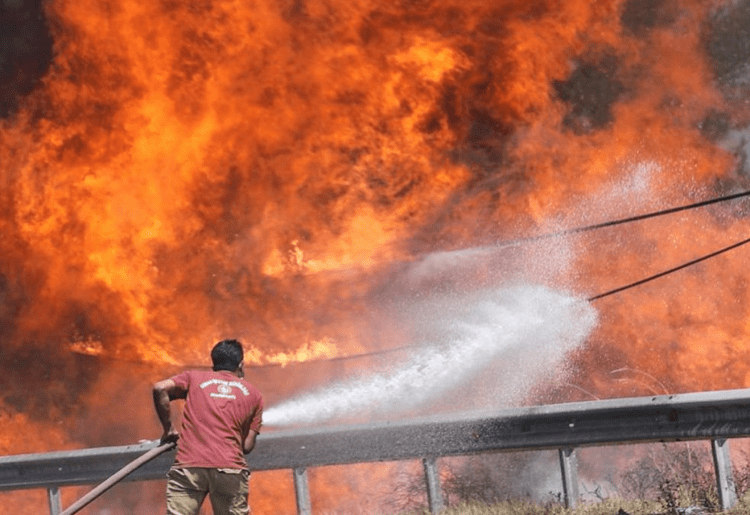
[[[513,488],[533,479],[524,476],[528,467],[523,461],[502,456],[491,459],[445,467],[442,493],[449,507],[441,515],[750,515],[750,456],[745,455],[742,465],[733,470],[739,502],[722,511],[707,446],[649,447],[622,472],[609,495],[598,489],[588,492],[597,496],[579,502],[575,510],[563,506],[561,494],[549,492],[546,500],[539,500]],[[390,515],[429,515],[424,507],[424,479],[419,475],[404,482],[393,496],[398,504]]]

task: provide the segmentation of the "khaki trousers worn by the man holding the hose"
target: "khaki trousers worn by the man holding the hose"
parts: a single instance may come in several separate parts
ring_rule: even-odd
[[[215,515],[249,515],[247,470],[173,468],[167,474],[167,515],[198,515],[206,495]]]

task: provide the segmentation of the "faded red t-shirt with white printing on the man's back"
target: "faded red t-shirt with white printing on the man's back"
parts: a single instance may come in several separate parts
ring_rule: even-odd
[[[189,370],[171,379],[187,390],[174,467],[247,469],[242,444],[251,429],[260,432],[260,392],[225,370]]]

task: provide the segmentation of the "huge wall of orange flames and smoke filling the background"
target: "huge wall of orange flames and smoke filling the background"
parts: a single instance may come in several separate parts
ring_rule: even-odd
[[[407,281],[409,263],[750,187],[748,0],[0,15],[0,453],[156,438],[149,383],[227,336],[273,404],[365,368],[300,362],[409,344],[384,306],[450,276]],[[733,201],[499,245],[447,283],[586,298],[748,232]],[[748,252],[597,301],[571,375],[530,402],[750,385]],[[274,474],[253,480],[257,513],[294,509]],[[319,474],[316,506],[336,506],[349,483]],[[12,495],[15,513],[46,502]],[[161,498],[112,509],[138,502]]]

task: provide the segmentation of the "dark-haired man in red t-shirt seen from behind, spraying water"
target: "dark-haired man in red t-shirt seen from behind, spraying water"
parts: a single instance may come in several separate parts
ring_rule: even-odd
[[[206,495],[215,515],[250,513],[245,454],[260,432],[263,397],[243,379],[244,352],[237,340],[217,343],[211,361],[211,371],[186,371],[154,384],[161,442],[179,438],[167,474],[167,515],[197,515]],[[175,399],[185,399],[179,435],[170,413]]]

